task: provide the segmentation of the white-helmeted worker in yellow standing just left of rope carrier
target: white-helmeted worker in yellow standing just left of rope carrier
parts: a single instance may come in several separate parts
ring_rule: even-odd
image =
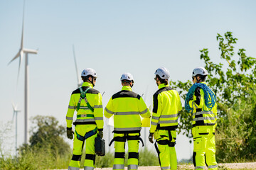
[[[149,142],[156,140],[156,152],[159,155],[161,169],[177,169],[176,128],[178,112],[181,111],[181,98],[178,92],[168,84],[170,73],[160,67],[155,72],[156,84],[159,88],[153,96],[153,115],[149,130]]]

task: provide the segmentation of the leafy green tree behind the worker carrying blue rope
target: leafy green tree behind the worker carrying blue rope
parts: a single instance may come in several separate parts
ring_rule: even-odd
[[[233,33],[227,32],[224,36],[218,34],[217,40],[220,59],[224,62],[219,64],[212,62],[208,49],[200,50],[200,58],[204,61],[209,73],[206,82],[217,97],[219,119],[216,143],[217,147],[221,148],[217,149],[218,159],[225,162],[234,161],[235,154],[242,158],[247,154],[253,155],[256,151],[255,143],[252,144],[255,142],[256,124],[256,60],[253,57],[247,57],[243,48],[235,52],[234,45],[238,39],[233,38]],[[170,81],[170,84],[178,90],[183,99],[186,98],[187,91],[192,86],[191,81]],[[179,132],[186,130],[184,133],[191,137],[192,116],[184,108],[180,115]],[[234,150],[236,152],[233,152]],[[250,159],[253,159],[252,157]]]

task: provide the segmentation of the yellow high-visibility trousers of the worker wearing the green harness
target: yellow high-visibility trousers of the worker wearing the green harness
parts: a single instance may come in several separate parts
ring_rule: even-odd
[[[96,125],[76,125],[75,131],[81,135],[85,136],[86,132],[90,132],[94,130]],[[74,142],[73,142],[73,157],[68,166],[68,170],[79,170],[80,169],[80,161],[82,157],[82,149],[85,145],[85,170],[93,170],[95,168],[95,137],[97,137],[97,133],[88,137],[85,141],[78,140],[76,133],[74,134]]]

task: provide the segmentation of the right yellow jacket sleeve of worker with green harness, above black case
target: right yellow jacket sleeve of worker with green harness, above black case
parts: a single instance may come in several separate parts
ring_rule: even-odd
[[[95,106],[94,106],[94,116],[95,122],[98,130],[103,130],[103,107],[102,107],[102,96],[101,94],[97,94],[95,96]]]

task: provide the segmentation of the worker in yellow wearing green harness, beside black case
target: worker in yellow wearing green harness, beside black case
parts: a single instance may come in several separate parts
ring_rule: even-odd
[[[95,168],[95,137],[103,137],[103,108],[102,96],[99,91],[93,89],[97,74],[94,69],[84,69],[81,74],[84,81],[82,86],[71,94],[68,105],[67,136],[73,139],[73,157],[68,166],[69,170],[79,170],[82,149],[85,145],[85,170]],[[74,112],[77,111],[76,120],[73,123]],[[72,130],[75,125],[75,132]],[[86,140],[86,142],[85,142]]]

